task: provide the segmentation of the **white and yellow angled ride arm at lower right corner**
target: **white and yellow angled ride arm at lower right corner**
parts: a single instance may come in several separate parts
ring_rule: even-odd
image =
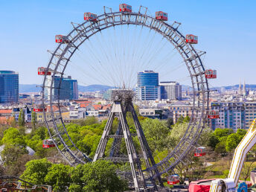
[[[246,154],[256,143],[256,119],[252,122],[246,135],[243,137],[234,151],[234,157],[231,163],[227,179],[217,179],[211,182],[210,192],[224,191],[247,191],[247,185],[243,182],[237,186],[240,173],[246,160]]]

